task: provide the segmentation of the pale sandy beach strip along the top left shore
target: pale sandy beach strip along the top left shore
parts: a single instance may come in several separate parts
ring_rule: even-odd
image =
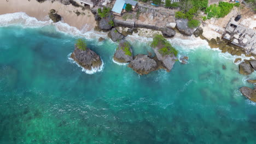
[[[94,15],[89,9],[82,10],[82,8],[74,7],[73,5],[64,5],[60,2],[51,3],[46,1],[39,3],[36,0],[5,0],[0,1],[0,15],[8,13],[24,12],[28,16],[36,17],[39,21],[50,20],[48,13],[50,9],[55,9],[57,14],[61,15],[62,22],[69,26],[77,27],[80,31],[90,31],[96,26]],[[74,12],[79,11],[85,15],[77,16]]]

